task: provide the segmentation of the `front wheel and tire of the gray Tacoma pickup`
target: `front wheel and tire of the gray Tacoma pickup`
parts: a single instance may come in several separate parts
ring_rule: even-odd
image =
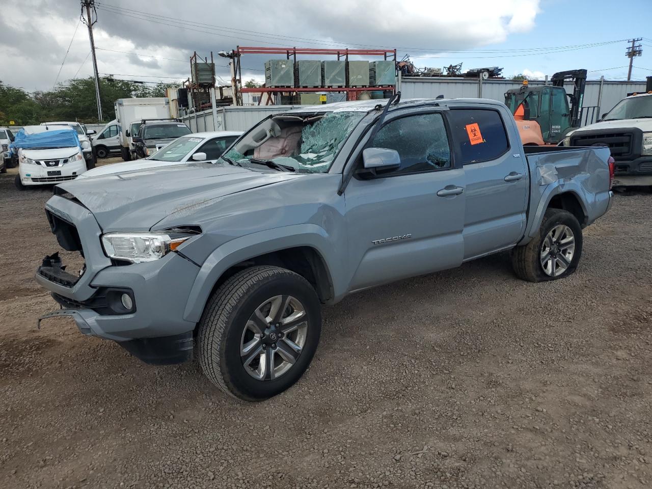
[[[265,400],[301,378],[320,333],[321,304],[305,278],[280,267],[250,267],[206,304],[197,338],[201,369],[231,396]]]

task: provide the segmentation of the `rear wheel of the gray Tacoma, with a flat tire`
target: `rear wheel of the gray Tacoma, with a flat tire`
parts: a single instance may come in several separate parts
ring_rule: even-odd
[[[582,257],[582,228],[577,218],[561,209],[548,209],[539,232],[512,252],[519,278],[544,282],[564,278],[575,271]]]

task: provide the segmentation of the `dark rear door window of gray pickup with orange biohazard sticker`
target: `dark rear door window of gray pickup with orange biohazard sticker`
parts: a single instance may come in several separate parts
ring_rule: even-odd
[[[496,110],[451,110],[448,117],[462,164],[495,160],[509,149],[503,119]]]

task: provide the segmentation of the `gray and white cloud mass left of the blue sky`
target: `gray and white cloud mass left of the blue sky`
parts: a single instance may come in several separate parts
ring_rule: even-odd
[[[231,50],[238,45],[325,47],[319,40],[342,48],[396,47],[402,53],[409,52],[413,58],[421,57],[422,65],[443,66],[453,60],[432,58],[448,50],[453,52],[449,56],[460,54],[462,61],[468,53],[465,56],[464,52],[456,52],[458,50],[481,48],[503,42],[511,33],[529,31],[539,13],[539,2],[332,0],[322,8],[310,0],[276,0],[274,8],[269,8],[269,1],[263,0],[216,0],[212,8],[207,9],[205,0],[185,0],[183,8],[179,8],[177,1],[160,0],[156,2],[155,13],[162,17],[150,17],[156,22],[135,18],[149,16],[150,10],[115,13],[115,8],[110,7],[113,10],[110,12],[100,3],[94,32],[96,46],[105,50],[181,60],[98,50],[100,72],[134,75],[132,78],[136,80],[137,76],[188,78],[190,66],[184,60],[194,51],[206,56],[211,51],[216,55],[220,50]],[[111,5],[137,8],[132,0],[112,0]],[[202,12],[202,16],[193,18],[187,12]],[[11,69],[3,70],[0,80],[28,90],[50,89],[78,16],[77,2],[22,0],[5,5],[0,18],[0,63]],[[186,29],[173,27],[181,20],[194,20],[195,23],[186,25]],[[87,30],[81,24],[60,80],[72,78],[82,63],[79,76],[91,74],[91,59],[83,62],[88,52]],[[261,80],[263,61],[269,57],[243,57],[243,78]],[[230,80],[227,60],[218,57],[216,65],[218,76]]]

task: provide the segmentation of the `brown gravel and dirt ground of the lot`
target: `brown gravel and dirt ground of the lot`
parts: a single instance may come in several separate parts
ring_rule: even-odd
[[[617,196],[567,280],[505,254],[324,310],[304,378],[237,402],[153,367],[35,284],[52,190],[0,176],[2,488],[650,488],[652,194]]]

